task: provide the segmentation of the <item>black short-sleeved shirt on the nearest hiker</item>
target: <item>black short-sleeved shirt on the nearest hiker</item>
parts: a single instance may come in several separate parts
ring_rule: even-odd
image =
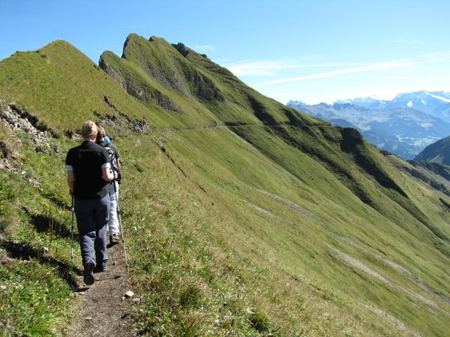
[[[68,171],[75,176],[74,194],[79,199],[99,199],[108,194],[102,169],[110,167],[108,151],[91,141],[73,147],[65,157]]]

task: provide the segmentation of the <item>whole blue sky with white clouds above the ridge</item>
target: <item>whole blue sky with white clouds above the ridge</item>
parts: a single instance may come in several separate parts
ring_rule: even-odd
[[[134,32],[282,103],[450,91],[450,1],[0,0],[0,13],[0,59],[64,39],[98,62]]]

